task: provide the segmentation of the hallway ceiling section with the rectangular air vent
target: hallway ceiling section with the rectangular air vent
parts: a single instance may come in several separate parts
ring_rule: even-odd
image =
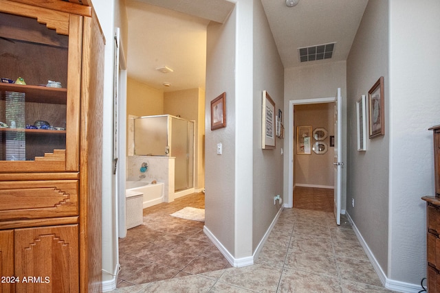
[[[336,43],[333,58],[347,60],[368,0],[300,0],[287,8],[283,0],[261,0],[285,68],[305,65],[298,60],[300,47]]]

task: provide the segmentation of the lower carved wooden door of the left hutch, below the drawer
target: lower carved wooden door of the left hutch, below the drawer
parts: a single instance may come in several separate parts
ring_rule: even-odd
[[[14,231],[16,292],[78,292],[78,225]]]

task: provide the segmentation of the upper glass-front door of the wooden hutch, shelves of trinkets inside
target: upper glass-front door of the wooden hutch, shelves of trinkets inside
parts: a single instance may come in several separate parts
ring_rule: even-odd
[[[1,78],[26,83],[0,83],[0,173],[78,171],[82,34],[83,16],[0,0]]]

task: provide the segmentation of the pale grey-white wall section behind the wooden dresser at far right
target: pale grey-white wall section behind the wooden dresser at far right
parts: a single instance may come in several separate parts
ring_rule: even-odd
[[[440,122],[440,2],[390,0],[388,278],[426,277],[426,208],[434,194],[432,132]],[[408,21],[410,19],[411,21]]]

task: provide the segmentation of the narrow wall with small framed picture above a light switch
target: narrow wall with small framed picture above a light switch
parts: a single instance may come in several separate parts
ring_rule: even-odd
[[[206,46],[205,227],[234,254],[236,9],[225,23],[210,23]],[[211,130],[210,102],[226,93],[225,128]],[[223,154],[217,154],[217,143]]]

